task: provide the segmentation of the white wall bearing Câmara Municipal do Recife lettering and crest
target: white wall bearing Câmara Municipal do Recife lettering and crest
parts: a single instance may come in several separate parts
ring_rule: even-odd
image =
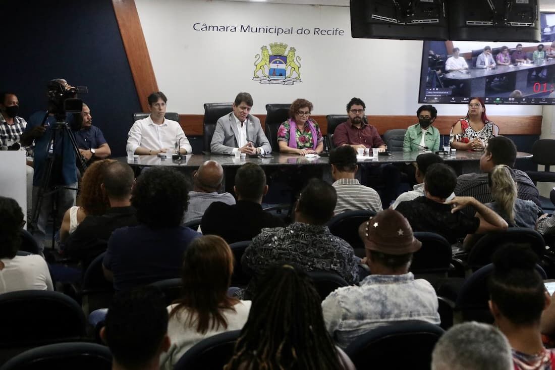
[[[204,113],[203,103],[253,95],[253,113],[267,103],[306,98],[315,114],[343,113],[351,97],[367,114],[415,114],[422,41],[353,39],[348,7],[204,0],[135,0],[160,89],[168,110]],[[195,31],[195,23],[235,26],[236,32]],[[300,27],[311,34],[246,33],[240,25]],[[197,26],[198,27],[198,26]],[[314,28],[341,29],[341,36],[316,36]],[[292,86],[253,81],[255,55],[269,43],[295,47],[301,80]],[[288,49],[289,49],[288,47]],[[462,105],[438,104],[440,114],[465,114]],[[488,114],[542,114],[538,106],[488,106]]]

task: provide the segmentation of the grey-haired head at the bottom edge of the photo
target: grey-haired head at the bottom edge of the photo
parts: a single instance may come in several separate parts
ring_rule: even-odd
[[[511,345],[494,326],[465,322],[443,334],[432,353],[432,370],[513,370]]]

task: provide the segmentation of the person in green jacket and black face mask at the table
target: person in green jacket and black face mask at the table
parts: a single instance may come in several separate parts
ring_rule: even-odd
[[[421,106],[416,111],[418,123],[408,126],[403,138],[403,153],[421,151],[427,147],[432,152],[440,150],[440,131],[432,126],[437,117],[434,106]]]

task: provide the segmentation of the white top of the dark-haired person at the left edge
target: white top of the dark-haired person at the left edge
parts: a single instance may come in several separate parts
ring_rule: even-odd
[[[2,258],[0,261],[4,264],[4,268],[0,269],[0,293],[54,290],[48,265],[38,254]]]

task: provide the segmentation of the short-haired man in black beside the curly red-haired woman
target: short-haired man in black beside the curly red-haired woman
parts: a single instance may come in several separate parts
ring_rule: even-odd
[[[87,216],[64,243],[65,255],[81,261],[83,269],[106,251],[108,239],[115,229],[138,224],[137,211],[130,200],[135,181],[133,169],[127,163],[109,163],[101,181],[100,188],[108,197],[110,208],[101,216]]]

